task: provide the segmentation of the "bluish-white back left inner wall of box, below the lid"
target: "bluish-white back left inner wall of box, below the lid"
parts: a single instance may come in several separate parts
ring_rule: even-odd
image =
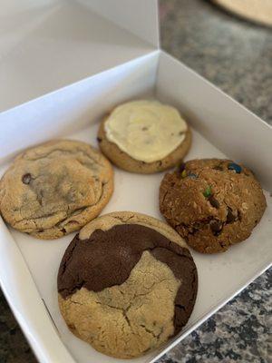
[[[95,122],[120,100],[151,93],[157,61],[155,51],[0,113],[0,161],[37,142],[63,137]]]

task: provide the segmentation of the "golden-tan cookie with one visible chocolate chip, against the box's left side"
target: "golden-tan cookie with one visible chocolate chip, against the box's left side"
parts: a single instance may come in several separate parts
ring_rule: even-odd
[[[112,166],[84,142],[46,142],[21,153],[0,182],[0,211],[41,239],[77,231],[111,198]]]

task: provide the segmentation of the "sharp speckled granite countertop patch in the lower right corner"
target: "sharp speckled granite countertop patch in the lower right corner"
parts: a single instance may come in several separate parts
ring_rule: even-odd
[[[272,270],[193,331],[160,363],[272,361]]]

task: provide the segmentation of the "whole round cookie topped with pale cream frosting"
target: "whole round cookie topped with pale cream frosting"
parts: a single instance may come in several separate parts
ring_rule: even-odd
[[[158,101],[133,101],[105,118],[97,138],[102,152],[128,172],[161,172],[189,151],[188,124],[174,107]]]

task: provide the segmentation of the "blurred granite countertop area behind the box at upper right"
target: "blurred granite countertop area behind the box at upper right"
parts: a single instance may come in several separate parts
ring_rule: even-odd
[[[272,28],[205,0],[160,1],[161,47],[272,123]]]

